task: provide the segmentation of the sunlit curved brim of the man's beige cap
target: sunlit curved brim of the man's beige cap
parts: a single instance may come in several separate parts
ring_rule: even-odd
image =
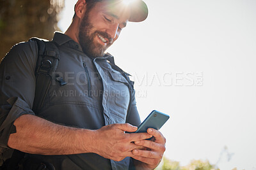
[[[148,7],[144,1],[137,0],[132,2],[129,6],[131,8],[129,22],[141,22],[148,17]]]

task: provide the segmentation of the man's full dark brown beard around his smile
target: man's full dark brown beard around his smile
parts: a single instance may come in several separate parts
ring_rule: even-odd
[[[108,49],[109,46],[113,44],[113,39],[110,38],[106,32],[95,30],[95,27],[93,27],[88,19],[88,13],[89,11],[86,11],[79,26],[78,41],[81,45],[83,52],[88,55],[88,57],[103,57],[105,55],[104,52]],[[98,35],[109,39],[106,46],[95,42],[95,38]]]

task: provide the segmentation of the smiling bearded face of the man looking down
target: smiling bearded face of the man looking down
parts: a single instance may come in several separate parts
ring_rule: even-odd
[[[107,1],[96,3],[92,9],[86,10],[78,35],[83,52],[93,58],[104,56],[106,49],[126,26],[129,16],[128,10],[110,8]]]

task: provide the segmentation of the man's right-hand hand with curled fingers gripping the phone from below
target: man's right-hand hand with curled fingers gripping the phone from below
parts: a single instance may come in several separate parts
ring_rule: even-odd
[[[154,169],[161,162],[163,153],[166,150],[164,138],[161,132],[156,129],[147,129],[148,134],[154,136],[152,140],[135,141],[134,144],[146,147],[147,150],[134,149],[132,155],[136,169]],[[138,161],[139,160],[139,161]]]

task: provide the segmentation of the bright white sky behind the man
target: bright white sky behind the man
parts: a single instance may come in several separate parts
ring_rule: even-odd
[[[220,169],[256,169],[256,1],[145,0],[109,48],[133,74],[141,120],[170,115],[161,132],[168,159],[208,159]],[[76,0],[65,2],[65,31]],[[230,161],[227,153],[234,153]]]

